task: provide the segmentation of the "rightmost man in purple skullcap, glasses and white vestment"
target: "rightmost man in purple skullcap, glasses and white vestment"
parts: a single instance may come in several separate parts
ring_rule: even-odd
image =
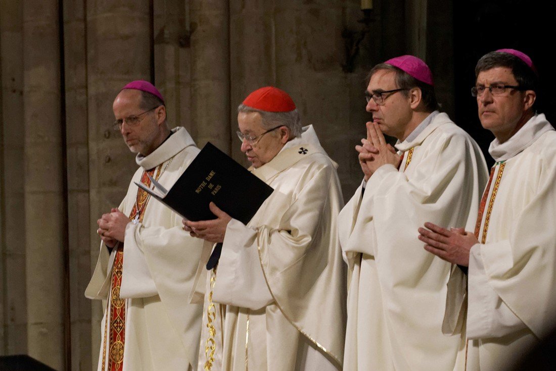
[[[466,318],[466,364],[461,370],[504,370],[556,324],[556,131],[534,113],[537,74],[514,49],[483,56],[473,94],[483,127],[496,139],[473,232],[432,223],[420,228],[430,252],[469,266],[468,283],[450,288],[446,330]],[[446,225],[446,224],[444,224]],[[448,325],[450,324],[450,325]]]

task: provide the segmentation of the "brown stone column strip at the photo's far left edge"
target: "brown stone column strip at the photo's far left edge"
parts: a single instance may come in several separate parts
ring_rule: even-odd
[[[0,352],[27,353],[23,4],[0,0]]]

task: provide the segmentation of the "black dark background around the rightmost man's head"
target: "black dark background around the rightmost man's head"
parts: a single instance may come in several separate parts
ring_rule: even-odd
[[[556,6],[540,1],[455,1],[454,3],[454,121],[479,143],[487,163],[493,164],[488,146],[494,136],[481,128],[476,99],[470,89],[475,65],[484,54],[502,48],[518,49],[532,60],[540,76],[537,112],[554,122],[554,73],[551,40]]]

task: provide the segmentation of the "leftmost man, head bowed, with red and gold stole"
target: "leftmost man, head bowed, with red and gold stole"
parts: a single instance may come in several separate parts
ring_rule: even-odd
[[[185,128],[164,129],[163,106],[148,112],[154,117],[138,117],[145,111],[140,95],[145,84],[124,88],[115,102],[116,118],[124,117],[116,124],[130,149],[139,152],[140,168],[118,209],[99,220],[103,242],[85,293],[105,306],[99,371],[193,370],[197,363],[201,305],[189,304],[188,294],[202,240],[184,232],[181,217],[134,182],[150,184],[149,173],[170,188],[199,151]],[[158,130],[166,135],[157,137],[161,144],[151,145]]]

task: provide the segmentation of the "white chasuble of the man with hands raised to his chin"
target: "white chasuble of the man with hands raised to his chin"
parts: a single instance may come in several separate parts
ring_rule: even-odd
[[[377,169],[339,216],[350,273],[344,370],[447,371],[464,361],[461,326],[451,337],[442,328],[445,308],[464,305],[463,295],[446,298],[464,274],[426,252],[418,228],[472,228],[486,164],[445,113],[413,137],[396,144],[400,169]]]

